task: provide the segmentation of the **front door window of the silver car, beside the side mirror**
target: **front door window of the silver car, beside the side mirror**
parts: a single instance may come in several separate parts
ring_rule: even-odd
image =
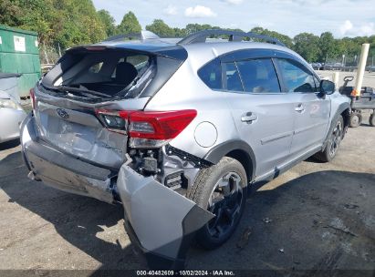
[[[278,66],[284,77],[288,92],[316,92],[314,78],[307,69],[298,65],[297,62],[278,59]]]

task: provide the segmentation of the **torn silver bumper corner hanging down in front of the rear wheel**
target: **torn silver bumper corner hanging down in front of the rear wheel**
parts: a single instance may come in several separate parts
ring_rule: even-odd
[[[117,187],[130,240],[141,248],[149,267],[182,268],[193,234],[214,214],[128,164],[120,169]]]

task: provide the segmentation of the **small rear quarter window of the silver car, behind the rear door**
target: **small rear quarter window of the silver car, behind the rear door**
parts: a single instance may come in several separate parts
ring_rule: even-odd
[[[222,67],[220,60],[215,58],[198,70],[198,76],[203,80],[207,87],[212,89],[222,89]]]

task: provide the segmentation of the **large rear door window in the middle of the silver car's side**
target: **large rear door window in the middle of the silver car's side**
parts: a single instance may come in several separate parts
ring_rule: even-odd
[[[276,70],[271,59],[236,62],[246,92],[280,92]]]

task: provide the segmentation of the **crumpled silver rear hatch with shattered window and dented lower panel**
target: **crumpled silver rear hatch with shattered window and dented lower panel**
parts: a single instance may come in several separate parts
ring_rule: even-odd
[[[32,90],[39,136],[78,159],[120,169],[128,144],[121,115],[145,108],[186,57],[180,46],[141,43],[68,50]]]

